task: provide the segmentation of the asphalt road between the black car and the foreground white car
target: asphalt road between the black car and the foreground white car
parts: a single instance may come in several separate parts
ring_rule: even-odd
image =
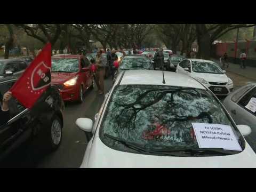
[[[111,89],[111,80],[106,79],[106,91]],[[89,90],[84,95],[82,104],[65,103],[64,129],[62,142],[57,151],[45,153],[40,139],[27,141],[10,156],[8,156],[0,167],[68,167],[76,168],[82,163],[87,145],[85,132],[79,130],[75,125],[79,117],[94,119],[101,107],[105,95],[99,95],[97,89]]]

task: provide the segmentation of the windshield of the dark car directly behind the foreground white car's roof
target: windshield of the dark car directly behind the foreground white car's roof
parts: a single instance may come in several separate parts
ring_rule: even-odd
[[[151,69],[151,63],[146,58],[125,58],[121,64],[121,70]]]

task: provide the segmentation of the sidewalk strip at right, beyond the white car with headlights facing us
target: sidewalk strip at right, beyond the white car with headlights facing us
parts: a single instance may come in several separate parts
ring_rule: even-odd
[[[219,65],[220,65],[219,60],[212,59],[212,61],[215,61],[215,62],[219,63]],[[255,67],[246,67],[246,69],[241,69],[240,65],[229,62],[229,67],[227,69],[225,68],[223,70],[229,71],[229,72],[237,74],[237,75],[241,75],[246,78],[251,78],[256,81],[256,68]]]

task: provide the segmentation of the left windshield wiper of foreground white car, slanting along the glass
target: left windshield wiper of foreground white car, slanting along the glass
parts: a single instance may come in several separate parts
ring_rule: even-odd
[[[105,133],[104,136],[107,137],[107,138],[113,139],[115,141],[118,141],[118,142],[122,143],[125,147],[133,149],[135,151],[139,151],[140,153],[144,152],[144,153],[153,153],[153,154],[157,154],[157,155],[179,156],[179,155],[172,155],[172,154],[169,154],[169,153],[163,153],[164,151],[162,152],[162,151],[155,151],[155,150],[147,150],[147,149],[145,149],[145,148],[143,148],[139,145],[136,145],[136,144],[131,143],[131,142],[127,142],[123,139],[116,138],[116,137],[114,137],[112,135],[109,135],[107,133]]]

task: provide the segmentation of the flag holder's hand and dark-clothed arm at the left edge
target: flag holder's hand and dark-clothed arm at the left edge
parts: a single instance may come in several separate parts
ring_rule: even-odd
[[[10,119],[10,114],[9,114],[9,106],[8,106],[8,102],[9,100],[12,98],[12,93],[11,92],[7,92],[4,94],[3,97],[3,103],[0,102],[0,127],[2,125],[4,125],[5,123],[7,123]]]

